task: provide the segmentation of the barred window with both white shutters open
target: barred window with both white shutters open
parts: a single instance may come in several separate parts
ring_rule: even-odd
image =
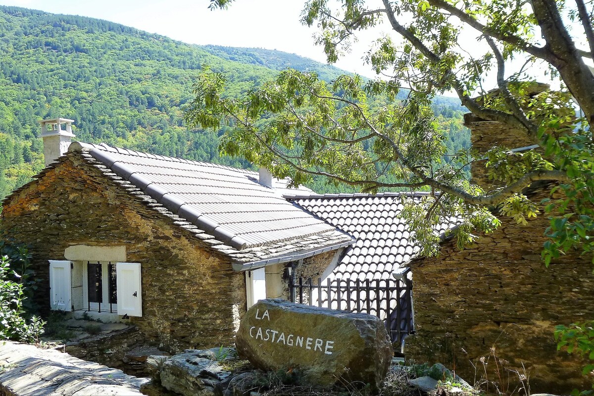
[[[52,309],[142,316],[139,263],[50,260],[49,265]]]

